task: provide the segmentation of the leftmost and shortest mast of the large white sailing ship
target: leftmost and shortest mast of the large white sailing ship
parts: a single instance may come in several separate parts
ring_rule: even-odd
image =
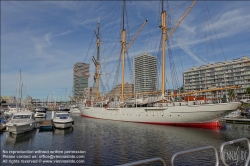
[[[97,60],[93,57],[93,62],[95,64],[95,93],[96,93],[96,100],[98,100],[98,91],[99,91],[99,79],[100,79],[100,45],[101,45],[101,40],[100,40],[100,18],[98,19],[98,31],[96,33],[96,38],[97,38]]]

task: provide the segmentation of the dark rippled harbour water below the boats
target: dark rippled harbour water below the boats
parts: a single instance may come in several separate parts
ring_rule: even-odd
[[[3,163],[3,155],[7,156],[11,151],[19,153],[23,151],[23,155],[28,155],[28,151],[33,154],[37,152],[36,158],[32,159],[39,159],[36,165],[54,165],[55,163],[45,163],[45,160],[55,160],[55,154],[51,153],[63,155],[67,151],[71,151],[72,155],[80,156],[79,165],[119,165],[153,157],[160,157],[165,160],[167,165],[170,165],[171,156],[175,152],[208,145],[214,146],[219,152],[219,147],[223,142],[239,138],[250,139],[250,126],[242,124],[224,124],[220,130],[209,130],[72,116],[75,122],[73,129],[56,129],[46,132],[36,129],[17,137],[9,135],[8,132],[2,133],[0,135],[2,165],[10,164],[10,159],[6,159],[5,164]],[[47,112],[47,119],[50,118],[51,112]],[[232,154],[226,156],[227,163],[244,164],[245,156],[248,155],[246,142],[227,146],[225,150]],[[6,154],[6,152],[8,153]],[[61,152],[63,154],[60,154]],[[41,156],[42,154],[43,156]],[[17,165],[27,165],[20,163],[17,154],[14,157],[16,161],[19,161]],[[67,158],[67,160],[69,159]],[[14,159],[11,161],[15,163]],[[70,162],[61,162],[57,165],[77,164]],[[179,156],[175,161],[176,165],[214,165],[214,163],[215,157],[212,150]],[[220,165],[222,165],[221,160]]]

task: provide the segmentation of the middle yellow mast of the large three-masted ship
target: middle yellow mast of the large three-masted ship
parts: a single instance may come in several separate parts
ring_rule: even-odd
[[[122,95],[121,101],[124,101],[124,68],[125,68],[125,48],[126,48],[126,29],[124,29],[124,12],[125,12],[125,0],[123,0],[122,8]]]

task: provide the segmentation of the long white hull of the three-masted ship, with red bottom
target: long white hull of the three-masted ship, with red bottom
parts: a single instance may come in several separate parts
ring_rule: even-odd
[[[104,108],[85,107],[79,104],[81,116],[126,122],[162,125],[210,127],[217,120],[237,110],[240,103],[219,103],[202,105],[169,105],[167,107]]]

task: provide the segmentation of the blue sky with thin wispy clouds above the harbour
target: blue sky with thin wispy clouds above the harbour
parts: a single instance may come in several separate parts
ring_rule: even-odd
[[[191,3],[169,2],[170,28]],[[65,94],[72,95],[74,64],[90,63],[94,72],[91,57],[95,55],[98,18],[102,71],[106,73],[101,89],[110,90],[120,53],[121,6],[121,1],[1,1],[1,96],[16,95],[19,70],[26,94],[33,98],[45,99],[55,93],[57,100],[65,100]],[[225,57],[250,57],[249,8],[249,1],[196,3],[170,40],[179,85],[182,71],[193,66],[224,61]],[[129,50],[131,59],[141,53],[160,57],[159,9],[159,1],[127,2],[128,42],[143,21],[149,20]],[[167,62],[168,87],[172,88],[169,66]],[[131,82],[130,76],[126,74],[126,82]]]

